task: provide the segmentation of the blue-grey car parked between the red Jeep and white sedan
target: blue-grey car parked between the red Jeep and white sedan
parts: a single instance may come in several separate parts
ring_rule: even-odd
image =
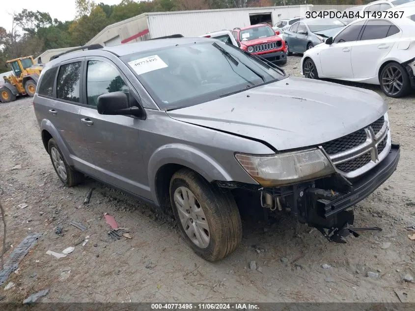
[[[282,39],[287,46],[288,55],[304,53],[327,38],[337,34],[346,26],[336,18],[305,19],[285,29]]]

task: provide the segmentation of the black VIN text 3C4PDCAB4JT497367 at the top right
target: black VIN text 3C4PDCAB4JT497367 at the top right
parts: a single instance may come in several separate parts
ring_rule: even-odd
[[[402,18],[404,11],[384,11],[384,12],[353,12],[353,11],[320,11],[320,12],[306,12],[305,18]]]

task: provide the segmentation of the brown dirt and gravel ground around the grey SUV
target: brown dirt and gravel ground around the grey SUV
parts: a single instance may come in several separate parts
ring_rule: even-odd
[[[288,74],[300,76],[299,60],[289,58],[284,66]],[[369,88],[381,93],[379,87]],[[355,208],[356,226],[379,226],[382,232],[368,231],[348,237],[347,244],[334,244],[304,225],[295,235],[289,218],[265,230],[264,224],[245,221],[240,247],[216,263],[196,256],[172,220],[153,207],[93,180],[64,187],[42,145],[31,99],[0,104],[0,200],[12,245],[5,259],[28,233],[43,233],[17,273],[0,287],[0,296],[22,301],[50,288],[42,301],[397,302],[397,290],[415,302],[415,284],[403,281],[406,274],[415,277],[415,241],[408,238],[415,232],[406,229],[415,225],[415,94],[386,100],[401,160],[392,177]],[[21,168],[11,170],[16,165]],[[91,187],[90,203],[83,205]],[[28,206],[21,209],[21,203]],[[130,228],[132,239],[110,239],[106,212],[119,226]],[[88,229],[70,226],[71,220]],[[56,226],[63,228],[62,234],[55,234]],[[75,246],[65,258],[46,254],[74,246],[86,235],[89,242]],[[258,254],[253,245],[263,252]],[[251,260],[259,271],[249,268]],[[65,267],[71,268],[70,277],[59,281]],[[367,277],[367,272],[379,277]],[[10,281],[16,286],[4,291]]]

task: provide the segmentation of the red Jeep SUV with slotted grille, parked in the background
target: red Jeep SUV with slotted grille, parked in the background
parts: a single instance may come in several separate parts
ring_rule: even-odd
[[[232,35],[238,46],[249,53],[279,64],[287,62],[285,42],[268,24],[234,28]]]

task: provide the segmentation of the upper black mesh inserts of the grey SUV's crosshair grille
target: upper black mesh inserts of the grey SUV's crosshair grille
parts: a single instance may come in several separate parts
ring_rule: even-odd
[[[381,130],[384,122],[385,117],[381,116],[379,119],[369,124],[367,127],[371,126],[373,132],[377,134]],[[333,155],[357,147],[365,141],[366,132],[364,131],[364,129],[361,129],[359,131],[353,132],[352,134],[337,138],[332,141],[325,142],[322,144],[322,146],[329,155]]]

